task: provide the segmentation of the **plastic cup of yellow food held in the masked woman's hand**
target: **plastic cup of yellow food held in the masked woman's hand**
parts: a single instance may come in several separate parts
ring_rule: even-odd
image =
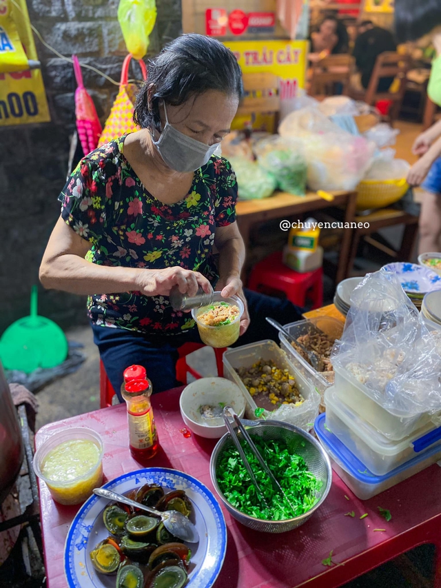
[[[244,305],[238,296],[223,298],[220,292],[214,292],[212,303],[201,308],[194,308],[192,316],[205,345],[229,347],[239,338],[240,317],[243,311]],[[218,322],[219,318],[224,317],[225,320]]]

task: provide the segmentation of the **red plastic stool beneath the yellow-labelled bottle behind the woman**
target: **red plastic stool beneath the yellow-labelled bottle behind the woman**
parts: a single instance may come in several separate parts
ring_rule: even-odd
[[[282,263],[282,252],[276,252],[254,266],[249,276],[249,290],[263,292],[265,288],[285,292],[297,306],[305,307],[307,298],[312,308],[323,305],[323,270],[299,274]]]

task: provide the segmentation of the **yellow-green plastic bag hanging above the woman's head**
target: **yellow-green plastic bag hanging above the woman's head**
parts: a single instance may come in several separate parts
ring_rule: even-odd
[[[127,51],[135,59],[142,59],[147,53],[149,35],[156,22],[155,0],[120,0],[118,21]]]

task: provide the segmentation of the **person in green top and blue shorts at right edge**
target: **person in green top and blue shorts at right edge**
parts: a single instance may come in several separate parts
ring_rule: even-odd
[[[430,34],[437,57],[432,62],[427,94],[441,105],[441,0],[418,2],[396,0],[395,30],[400,43]],[[407,176],[410,185],[424,190],[419,221],[419,253],[441,251],[441,122],[425,130],[413,143],[420,159]]]

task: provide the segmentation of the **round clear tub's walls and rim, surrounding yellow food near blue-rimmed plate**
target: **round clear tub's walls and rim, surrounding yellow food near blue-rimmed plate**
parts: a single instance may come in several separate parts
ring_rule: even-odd
[[[61,472],[57,472],[52,477],[45,474],[45,464],[47,463],[49,454],[61,445],[69,441],[87,441],[90,444],[94,444],[96,451],[92,448],[92,454],[94,456],[92,465],[88,467],[87,471],[83,472],[79,476],[74,476],[72,470],[70,473],[66,472],[65,479],[61,478]],[[81,458],[81,453],[76,451],[76,455]],[[88,452],[88,461],[90,455],[90,445],[83,447],[83,451]],[[66,471],[68,466],[72,468],[71,456],[64,458],[65,464],[61,463],[61,471]],[[92,490],[101,486],[103,483],[103,441],[98,433],[88,429],[86,427],[74,427],[72,429],[63,429],[54,433],[50,438],[45,440],[43,445],[37,449],[34,455],[34,471],[43,482],[46,483],[52,498],[60,503],[61,505],[79,505],[92,495]],[[81,467],[81,464],[79,465]]]

